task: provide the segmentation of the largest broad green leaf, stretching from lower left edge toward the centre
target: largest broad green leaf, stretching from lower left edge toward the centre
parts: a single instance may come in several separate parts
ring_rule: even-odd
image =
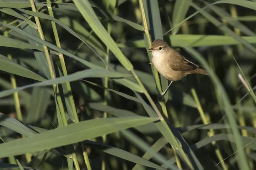
[[[143,116],[92,119],[0,144],[0,158],[60,147],[158,120]]]

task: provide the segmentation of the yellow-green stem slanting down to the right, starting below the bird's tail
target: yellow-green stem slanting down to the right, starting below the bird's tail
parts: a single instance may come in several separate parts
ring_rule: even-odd
[[[203,120],[204,125],[210,124],[211,122],[210,122],[210,120],[207,119],[207,116],[204,113],[204,110],[201,106],[201,103],[199,102],[199,99],[198,99],[198,96],[195,92],[195,89],[192,88],[191,92],[192,92],[192,95],[193,95],[193,97],[195,99],[195,102],[197,104],[197,109],[198,109],[198,112],[199,112],[199,114],[200,114],[200,116]],[[214,130],[210,129],[209,132],[208,132],[208,136],[214,136],[214,135],[215,135]],[[224,161],[222,161],[223,157],[221,155],[218,144],[214,141],[214,142],[212,142],[212,146],[215,148],[215,154],[218,157],[218,160],[221,161],[221,166],[222,166],[223,170],[228,170],[227,165],[225,164]]]

